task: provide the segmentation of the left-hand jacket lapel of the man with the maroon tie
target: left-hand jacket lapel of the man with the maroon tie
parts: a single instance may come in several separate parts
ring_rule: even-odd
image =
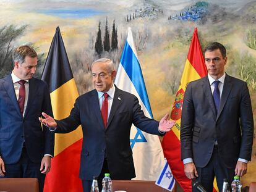
[[[16,94],[15,94],[15,91],[14,91],[14,83],[12,82],[11,75],[8,75],[6,77],[6,81],[4,81],[3,85],[4,85],[4,88],[7,92],[7,94],[9,95],[12,103],[14,104],[14,107],[15,107],[16,111],[18,112],[19,115],[22,115],[20,113],[20,107],[19,107],[19,104],[18,104],[18,101],[17,101],[17,98],[16,98]]]

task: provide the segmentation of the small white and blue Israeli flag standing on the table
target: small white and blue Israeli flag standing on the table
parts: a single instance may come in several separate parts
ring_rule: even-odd
[[[171,173],[168,161],[166,159],[164,161],[164,167],[160,172],[158,180],[156,180],[156,185],[161,186],[166,190],[173,191],[175,179],[173,177],[173,173]]]

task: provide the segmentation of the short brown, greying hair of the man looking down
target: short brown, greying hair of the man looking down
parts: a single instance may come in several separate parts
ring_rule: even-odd
[[[28,45],[23,45],[23,46],[17,47],[14,50],[12,59],[14,62],[17,61],[17,62],[19,62],[19,64],[23,64],[23,62],[25,62],[26,56],[35,58],[35,57],[37,57],[37,54],[32,47],[30,47]]]

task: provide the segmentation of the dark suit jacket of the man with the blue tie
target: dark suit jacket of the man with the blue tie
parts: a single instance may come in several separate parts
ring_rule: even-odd
[[[237,159],[250,161],[254,119],[247,84],[226,75],[220,109],[215,109],[208,77],[187,85],[181,118],[181,159],[193,158],[197,167],[210,161],[215,141],[226,167]]]

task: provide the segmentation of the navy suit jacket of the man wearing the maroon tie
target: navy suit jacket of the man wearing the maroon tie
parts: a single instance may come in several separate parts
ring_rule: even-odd
[[[19,161],[24,141],[33,162],[41,162],[44,154],[53,155],[54,134],[41,126],[41,112],[53,114],[44,81],[29,80],[27,108],[22,117],[11,75],[0,80],[0,154],[5,164]]]

